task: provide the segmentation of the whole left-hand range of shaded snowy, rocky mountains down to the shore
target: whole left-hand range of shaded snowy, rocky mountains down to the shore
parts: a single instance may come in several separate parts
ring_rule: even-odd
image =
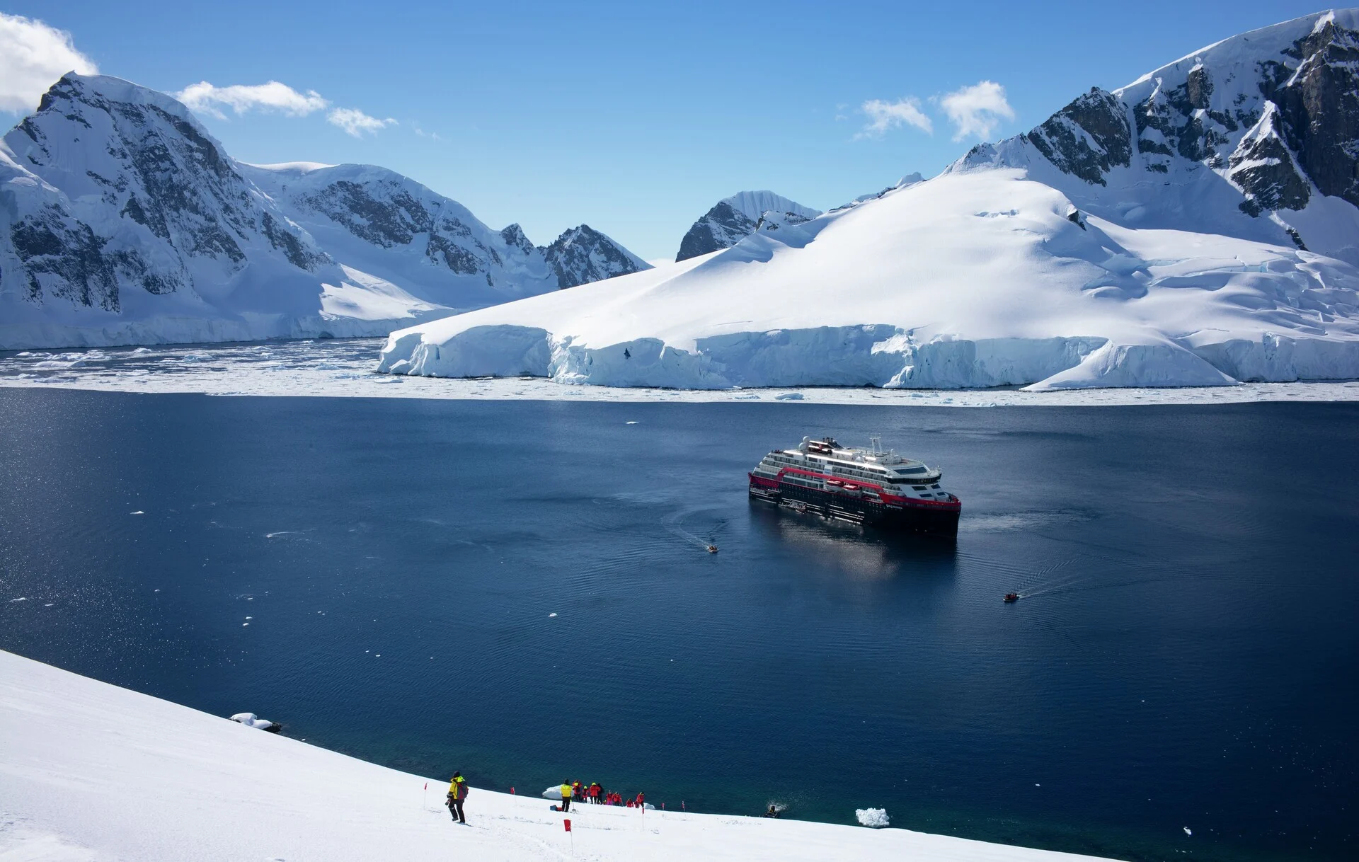
[[[393,171],[231,159],[175,99],[67,75],[0,143],[0,348],[383,334],[633,272]]]

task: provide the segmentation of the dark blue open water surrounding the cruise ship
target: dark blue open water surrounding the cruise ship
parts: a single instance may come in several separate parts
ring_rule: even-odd
[[[942,462],[957,547],[752,504],[805,434]],[[0,390],[0,647],[520,793],[1348,859],[1356,479],[1355,405]]]

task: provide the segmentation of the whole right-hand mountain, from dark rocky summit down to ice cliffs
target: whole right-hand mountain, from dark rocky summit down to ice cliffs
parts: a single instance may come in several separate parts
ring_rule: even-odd
[[[379,367],[678,387],[1359,377],[1356,24],[1219,42],[932,179],[394,332]]]

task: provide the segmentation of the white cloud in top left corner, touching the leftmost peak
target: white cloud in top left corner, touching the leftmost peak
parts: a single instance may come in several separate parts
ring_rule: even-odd
[[[98,75],[71,34],[41,20],[0,12],[0,110],[26,113],[67,72]]]

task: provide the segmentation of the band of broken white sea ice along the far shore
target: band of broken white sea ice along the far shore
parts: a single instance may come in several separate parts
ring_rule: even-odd
[[[374,373],[378,339],[321,339],[0,354],[0,387],[209,396],[492,401],[863,404],[879,407],[1070,407],[1359,401],[1359,381],[1237,386],[1053,389],[656,389],[559,386],[542,377],[429,378]]]

